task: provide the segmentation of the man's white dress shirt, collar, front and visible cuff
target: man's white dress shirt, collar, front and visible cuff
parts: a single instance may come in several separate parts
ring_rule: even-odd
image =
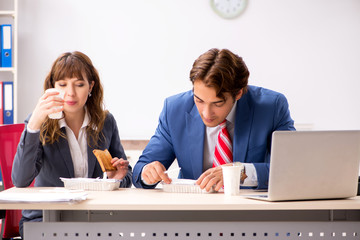
[[[226,117],[226,128],[230,134],[231,142],[234,139],[234,128],[235,128],[235,112],[236,112],[236,102],[231,109],[230,113]],[[212,164],[214,161],[214,153],[215,153],[215,145],[217,142],[217,138],[219,135],[219,131],[221,130],[220,126],[216,127],[206,127],[205,128],[205,139],[204,139],[204,161],[203,161],[203,169],[204,171],[212,168]],[[256,187],[258,185],[257,174],[254,164],[252,163],[244,163],[246,175],[248,176],[242,186],[247,187]]]

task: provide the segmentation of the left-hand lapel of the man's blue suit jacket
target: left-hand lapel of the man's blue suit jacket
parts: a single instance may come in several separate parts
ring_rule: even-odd
[[[202,174],[204,158],[205,125],[198,113],[196,105],[186,113],[186,131],[188,133],[188,157],[191,161],[194,179]]]

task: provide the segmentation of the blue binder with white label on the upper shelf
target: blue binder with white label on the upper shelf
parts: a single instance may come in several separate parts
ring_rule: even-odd
[[[12,67],[12,27],[10,24],[0,25],[0,67]]]

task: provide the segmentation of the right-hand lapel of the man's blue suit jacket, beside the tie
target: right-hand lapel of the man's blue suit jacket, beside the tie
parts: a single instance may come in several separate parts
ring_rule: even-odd
[[[240,98],[236,105],[236,120],[233,143],[234,162],[244,162],[249,145],[250,129],[254,111],[249,106],[248,94]]]

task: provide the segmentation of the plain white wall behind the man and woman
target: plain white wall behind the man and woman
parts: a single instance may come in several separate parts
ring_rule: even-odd
[[[284,93],[297,124],[360,129],[360,1],[249,0],[224,20],[208,0],[19,1],[18,122],[52,62],[86,53],[100,72],[122,139],[148,139],[165,97],[191,89],[212,47],[242,56],[250,84]]]

